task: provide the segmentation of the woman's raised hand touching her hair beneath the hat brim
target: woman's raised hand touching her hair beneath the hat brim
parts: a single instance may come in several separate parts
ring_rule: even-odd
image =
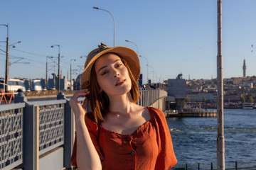
[[[84,118],[89,100],[88,98],[85,98],[85,101],[81,106],[78,102],[78,98],[80,96],[86,96],[87,94],[90,94],[89,89],[83,89],[80,91],[76,91],[75,94],[73,94],[73,96],[70,98],[70,106],[75,114],[75,117]]]

